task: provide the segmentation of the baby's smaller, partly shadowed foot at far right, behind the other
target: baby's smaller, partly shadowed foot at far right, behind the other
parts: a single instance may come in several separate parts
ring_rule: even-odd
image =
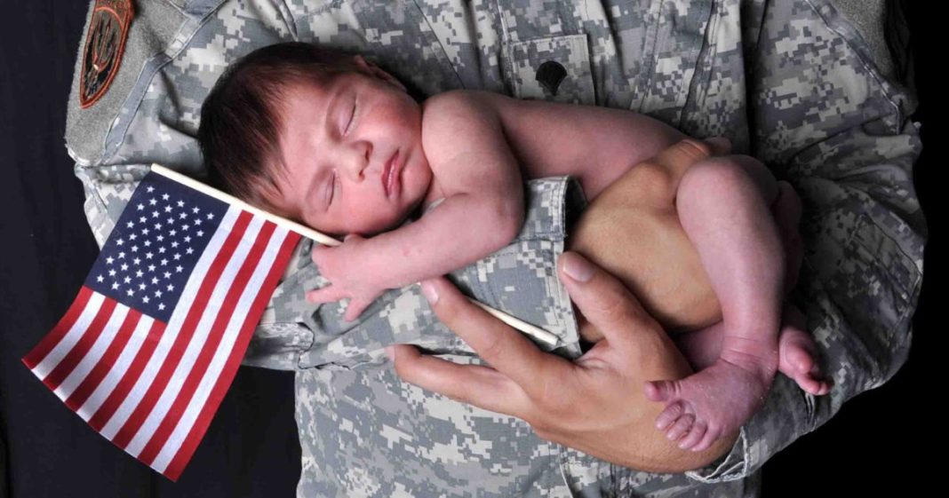
[[[828,394],[832,380],[824,378],[817,364],[814,339],[803,330],[804,314],[797,306],[786,304],[782,322],[778,337],[778,371],[792,378],[811,395]]]

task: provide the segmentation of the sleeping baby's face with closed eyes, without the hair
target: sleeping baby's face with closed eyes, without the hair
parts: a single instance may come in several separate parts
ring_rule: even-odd
[[[294,85],[283,101],[284,168],[274,175],[282,195],[270,200],[332,234],[396,227],[432,180],[419,103],[381,69],[360,64],[364,71],[326,85]]]

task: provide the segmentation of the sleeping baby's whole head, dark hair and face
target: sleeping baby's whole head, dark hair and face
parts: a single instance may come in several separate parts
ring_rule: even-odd
[[[405,87],[361,56],[303,43],[228,67],[197,135],[216,186],[327,233],[396,227],[432,180]]]

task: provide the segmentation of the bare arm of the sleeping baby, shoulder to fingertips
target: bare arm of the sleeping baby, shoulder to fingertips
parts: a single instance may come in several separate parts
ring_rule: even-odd
[[[422,112],[432,188],[445,200],[398,230],[314,253],[333,284],[312,291],[310,299],[351,298],[346,320],[358,317],[386,288],[448,273],[503,248],[523,223],[521,174],[496,113],[463,92],[425,101]]]

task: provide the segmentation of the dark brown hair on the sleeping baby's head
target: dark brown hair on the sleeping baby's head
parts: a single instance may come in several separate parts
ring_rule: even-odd
[[[353,54],[291,42],[247,54],[214,83],[201,106],[197,139],[211,183],[264,209],[277,193],[280,102],[293,84],[325,84],[354,71]],[[270,166],[270,167],[269,167]]]

